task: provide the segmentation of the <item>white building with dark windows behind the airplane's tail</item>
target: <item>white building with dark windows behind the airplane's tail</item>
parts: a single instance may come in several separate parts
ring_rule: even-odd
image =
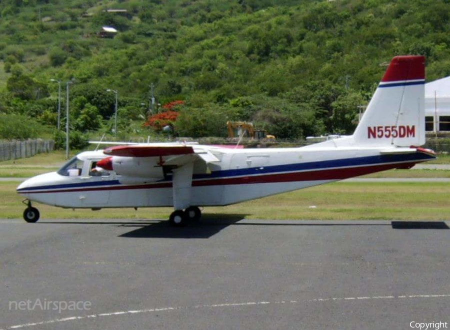
[[[450,76],[425,84],[425,131],[450,132]]]

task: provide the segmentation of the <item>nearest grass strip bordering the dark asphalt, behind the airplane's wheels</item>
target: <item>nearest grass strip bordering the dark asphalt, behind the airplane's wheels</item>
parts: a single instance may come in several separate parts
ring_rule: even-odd
[[[16,183],[0,183],[0,218],[21,218]],[[247,219],[450,220],[448,183],[332,183],[226,207],[205,207],[205,217]],[[42,219],[167,219],[171,208],[67,210],[34,204]]]

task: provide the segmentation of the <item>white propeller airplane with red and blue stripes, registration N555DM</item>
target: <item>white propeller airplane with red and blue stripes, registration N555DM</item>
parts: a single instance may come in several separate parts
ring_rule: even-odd
[[[17,187],[31,201],[62,208],[173,207],[183,226],[200,207],[224,206],[436,158],[425,143],[424,56],[395,56],[352,135],[297,148],[230,149],[195,143],[116,145],[82,152],[57,172]]]

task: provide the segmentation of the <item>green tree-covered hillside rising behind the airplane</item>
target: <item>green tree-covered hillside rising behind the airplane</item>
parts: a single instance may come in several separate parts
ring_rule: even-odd
[[[184,101],[181,136],[225,136],[226,120],[277,138],[351,133],[394,55],[425,55],[428,81],[450,75],[449,2],[2,0],[0,111],[55,127],[50,79],[63,109],[74,79],[74,130],[110,132],[110,88],[120,137],[146,136],[153,83],[157,103]]]

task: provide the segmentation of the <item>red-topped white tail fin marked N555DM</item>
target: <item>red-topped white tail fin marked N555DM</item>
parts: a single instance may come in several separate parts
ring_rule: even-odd
[[[424,56],[395,56],[353,133],[358,145],[425,143]]]

